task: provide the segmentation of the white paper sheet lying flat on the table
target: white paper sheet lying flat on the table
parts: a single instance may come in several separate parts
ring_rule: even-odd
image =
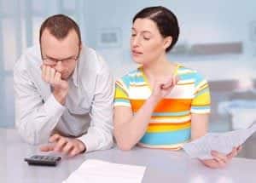
[[[62,183],[139,183],[143,180],[145,169],[142,166],[88,159]]]

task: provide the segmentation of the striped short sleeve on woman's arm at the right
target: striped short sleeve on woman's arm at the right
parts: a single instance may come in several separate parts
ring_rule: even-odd
[[[191,104],[191,113],[205,114],[211,111],[211,95],[207,80],[195,74],[195,93]]]

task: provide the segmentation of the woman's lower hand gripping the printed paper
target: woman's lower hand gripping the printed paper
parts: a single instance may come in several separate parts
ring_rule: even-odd
[[[241,146],[234,147],[232,152],[227,155],[220,152],[212,151],[211,154],[213,159],[204,159],[200,161],[201,163],[212,169],[224,168],[228,163],[230,163],[233,157],[236,157],[238,152],[241,152]]]

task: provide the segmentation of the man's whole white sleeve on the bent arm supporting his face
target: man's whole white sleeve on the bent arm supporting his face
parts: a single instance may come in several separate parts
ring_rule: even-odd
[[[14,68],[15,126],[26,142],[39,144],[49,139],[65,106],[61,106],[53,94],[45,101],[42,99],[24,61],[18,60]]]

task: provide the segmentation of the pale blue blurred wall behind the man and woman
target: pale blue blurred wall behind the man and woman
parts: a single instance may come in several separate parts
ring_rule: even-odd
[[[256,21],[255,0],[0,0],[0,127],[14,124],[15,60],[37,42],[39,26],[46,17],[72,15],[79,22],[84,43],[100,51],[119,77],[136,67],[129,48],[133,16],[140,9],[156,5],[177,14],[181,26],[178,43],[243,43],[242,54],[169,55],[170,60],[195,68],[208,80],[256,78],[256,38],[253,41],[250,37],[250,25]],[[119,29],[119,46],[99,44],[102,29]]]

